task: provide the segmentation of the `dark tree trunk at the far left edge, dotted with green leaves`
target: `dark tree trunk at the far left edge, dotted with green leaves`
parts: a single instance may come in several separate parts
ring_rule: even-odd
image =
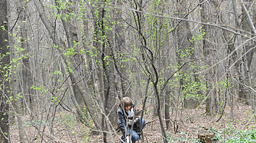
[[[9,104],[7,102],[10,92],[9,71],[10,48],[8,48],[8,20],[7,20],[7,2],[0,2],[0,141],[8,142],[9,136]]]

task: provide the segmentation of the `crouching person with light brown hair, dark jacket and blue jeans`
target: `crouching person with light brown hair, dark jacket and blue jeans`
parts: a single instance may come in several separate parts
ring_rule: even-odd
[[[124,97],[121,100],[119,107],[118,124],[122,131],[121,139],[125,141],[126,136],[131,134],[131,127],[133,127],[131,141],[138,141],[141,137],[141,127],[142,129],[144,128],[145,120],[142,118],[142,126],[140,127],[141,118],[134,119],[134,103],[131,98]]]

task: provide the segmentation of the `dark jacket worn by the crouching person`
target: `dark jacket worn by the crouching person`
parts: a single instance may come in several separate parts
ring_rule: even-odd
[[[134,108],[134,103],[133,103],[133,108]],[[127,123],[127,116],[128,113],[124,112],[122,108],[120,107],[118,110],[118,124],[120,125],[121,131],[123,135],[125,135],[125,128],[126,128],[126,135],[128,135],[128,126],[126,126]],[[126,136],[125,135],[125,136]]]

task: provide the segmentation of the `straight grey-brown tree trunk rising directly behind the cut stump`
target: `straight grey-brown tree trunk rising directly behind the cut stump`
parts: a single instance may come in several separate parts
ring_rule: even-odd
[[[219,4],[216,1],[212,1],[210,3],[204,3],[201,5],[201,18],[202,22],[207,23],[215,23],[217,21],[217,17],[214,14],[217,12],[216,8]],[[212,19],[212,21],[210,20]],[[203,25],[202,28],[205,35],[203,35],[203,56],[205,58],[206,67],[209,68],[215,63],[215,45],[217,43],[216,37],[213,37],[213,33],[215,33],[215,27],[211,27],[209,25]],[[206,71],[206,85],[207,92],[206,96],[206,113],[216,112],[218,110],[218,100],[216,91],[212,90],[215,84],[215,68],[209,68]],[[211,92],[210,92],[211,91]]]

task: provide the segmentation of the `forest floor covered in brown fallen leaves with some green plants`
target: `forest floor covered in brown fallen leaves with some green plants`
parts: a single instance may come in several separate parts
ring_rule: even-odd
[[[146,122],[152,121],[152,113],[146,112],[144,119]],[[225,107],[225,112],[219,122],[216,122],[220,114],[217,116],[210,116],[205,114],[205,108],[197,110],[179,110],[170,113],[172,123],[170,129],[167,130],[167,138],[170,142],[196,142],[198,141],[198,132],[215,132],[215,135],[219,135],[222,141],[239,135],[246,130],[255,129],[255,119],[251,112],[251,106],[245,105],[245,103],[238,103],[234,106],[233,114],[231,115],[231,107]],[[231,120],[233,116],[233,120]],[[145,142],[162,142],[162,135],[160,132],[160,123],[158,117],[155,116],[154,122],[147,124],[143,130]],[[177,121],[177,122],[175,122]],[[175,130],[173,126],[175,125]],[[164,122],[165,126],[165,122]],[[177,129],[178,126],[178,129]],[[27,142],[32,142],[35,135],[39,132],[31,126],[31,123],[23,119],[23,129],[25,131],[24,138]],[[44,126],[41,126],[41,132]],[[206,131],[208,130],[208,131]],[[18,126],[16,124],[11,125],[10,128],[11,142],[20,142],[18,137]],[[50,138],[50,130],[48,127],[44,129],[44,136],[38,136],[34,142],[47,142]],[[54,136],[52,136],[53,142],[103,142],[102,135],[92,135],[89,129],[83,126],[81,123],[74,121],[70,122],[55,122],[53,128]],[[113,140],[118,142],[118,136],[121,133],[118,132],[114,135]],[[246,138],[246,137],[245,137]],[[108,135],[108,141],[111,141],[110,135]],[[142,141],[139,141],[142,142]]]

